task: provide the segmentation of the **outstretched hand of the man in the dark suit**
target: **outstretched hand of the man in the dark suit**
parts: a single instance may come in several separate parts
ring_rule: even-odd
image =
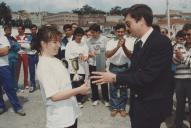
[[[90,78],[93,80],[92,83],[105,84],[116,82],[116,74],[111,72],[92,72],[93,76]]]

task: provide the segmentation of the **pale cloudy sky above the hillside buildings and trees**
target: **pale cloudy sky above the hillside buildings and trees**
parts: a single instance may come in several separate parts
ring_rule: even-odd
[[[5,2],[12,11],[27,10],[29,12],[48,11],[63,12],[81,8],[83,5],[109,11],[115,6],[122,8],[130,7],[133,4],[143,3],[150,6],[154,14],[164,14],[167,0],[0,0]],[[169,0],[169,8],[191,12],[191,0]]]

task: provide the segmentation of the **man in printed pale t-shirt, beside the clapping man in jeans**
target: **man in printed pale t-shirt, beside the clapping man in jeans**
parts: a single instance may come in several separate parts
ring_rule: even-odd
[[[88,40],[87,44],[89,47],[89,70],[90,75],[91,72],[96,71],[96,68],[99,68],[99,65],[102,65],[102,61],[100,61],[100,49],[104,49],[106,47],[106,43],[109,40],[107,37],[101,34],[100,25],[92,24],[89,28],[92,37]],[[105,58],[106,59],[106,58]],[[92,89],[92,105],[96,106],[99,103],[99,91],[98,86],[91,82],[91,89]],[[101,92],[103,96],[103,101],[105,106],[109,106],[109,95],[108,95],[108,85],[101,86]]]

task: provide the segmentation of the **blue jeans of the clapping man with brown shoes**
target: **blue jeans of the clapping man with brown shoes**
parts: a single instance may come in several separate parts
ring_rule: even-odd
[[[110,72],[112,73],[121,73],[128,70],[128,64],[124,66],[115,66],[110,64]],[[117,88],[116,83],[110,85],[110,104],[112,109],[125,110],[127,104],[128,94],[127,88]],[[118,96],[118,90],[120,95]]]

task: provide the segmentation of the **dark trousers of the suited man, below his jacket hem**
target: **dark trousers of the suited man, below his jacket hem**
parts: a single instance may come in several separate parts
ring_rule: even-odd
[[[168,100],[130,101],[130,120],[132,128],[160,128],[167,115]]]

